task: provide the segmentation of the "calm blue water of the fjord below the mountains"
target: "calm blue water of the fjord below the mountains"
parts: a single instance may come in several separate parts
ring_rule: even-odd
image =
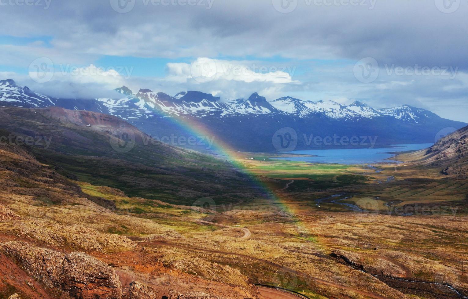
[[[384,154],[386,152],[399,152],[407,150],[425,149],[432,143],[422,144],[398,144],[391,148],[374,149],[315,149],[315,150],[295,150],[291,154],[316,155],[318,157],[290,157],[275,158],[278,160],[306,161],[320,163],[336,164],[368,164],[380,162],[395,162],[388,158],[395,157],[393,154]]]

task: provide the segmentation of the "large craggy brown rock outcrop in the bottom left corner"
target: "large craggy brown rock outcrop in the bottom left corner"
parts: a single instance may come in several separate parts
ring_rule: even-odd
[[[26,242],[0,244],[0,251],[13,258],[29,275],[73,298],[122,298],[122,285],[107,264],[81,252],[63,254],[31,247]]]

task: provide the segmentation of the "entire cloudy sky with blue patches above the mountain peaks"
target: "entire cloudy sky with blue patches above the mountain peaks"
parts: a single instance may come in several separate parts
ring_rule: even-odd
[[[0,78],[408,104],[468,122],[468,0],[0,0]]]

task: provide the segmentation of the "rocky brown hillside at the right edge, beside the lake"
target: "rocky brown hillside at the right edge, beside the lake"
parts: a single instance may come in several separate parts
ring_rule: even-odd
[[[429,149],[400,157],[424,167],[437,168],[446,176],[468,177],[468,127],[441,138]]]

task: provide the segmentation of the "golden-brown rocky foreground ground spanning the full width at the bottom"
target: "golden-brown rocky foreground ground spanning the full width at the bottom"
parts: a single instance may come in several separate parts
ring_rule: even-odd
[[[329,212],[287,192],[215,213],[78,185],[4,144],[0,185],[0,298],[269,298],[253,283],[310,298],[468,293],[465,215]]]

